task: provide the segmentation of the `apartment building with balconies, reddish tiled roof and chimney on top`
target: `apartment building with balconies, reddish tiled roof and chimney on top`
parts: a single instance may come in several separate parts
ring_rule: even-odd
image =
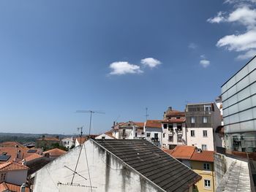
[[[173,149],[177,145],[187,145],[185,113],[177,110],[168,110],[162,120],[162,147]]]

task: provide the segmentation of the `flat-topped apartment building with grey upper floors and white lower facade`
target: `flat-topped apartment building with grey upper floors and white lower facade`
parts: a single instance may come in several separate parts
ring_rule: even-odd
[[[187,104],[185,116],[187,145],[202,150],[214,150],[214,139],[220,139],[215,130],[221,125],[221,115],[217,105],[212,102]]]

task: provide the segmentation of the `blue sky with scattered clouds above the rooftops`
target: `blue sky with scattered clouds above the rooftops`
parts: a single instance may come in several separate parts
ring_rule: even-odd
[[[1,1],[0,131],[77,134],[214,101],[256,53],[255,0]]]

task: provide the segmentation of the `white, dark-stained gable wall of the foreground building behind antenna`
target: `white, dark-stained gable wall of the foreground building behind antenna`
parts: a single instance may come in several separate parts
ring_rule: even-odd
[[[78,161],[77,172],[87,180],[75,174],[73,183],[80,186],[68,185],[73,175],[69,169],[75,169],[79,153],[80,147],[75,147],[66,155],[56,158],[40,169],[35,174],[34,191],[91,191],[89,171],[92,191],[161,191],[156,185],[129,166],[125,166],[116,156],[107,153],[92,140],[85,142]],[[86,154],[89,170],[86,164]]]

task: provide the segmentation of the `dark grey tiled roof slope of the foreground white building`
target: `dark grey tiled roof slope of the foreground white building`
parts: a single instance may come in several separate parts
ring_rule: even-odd
[[[201,178],[192,169],[146,140],[95,139],[94,141],[164,191],[186,191]]]

